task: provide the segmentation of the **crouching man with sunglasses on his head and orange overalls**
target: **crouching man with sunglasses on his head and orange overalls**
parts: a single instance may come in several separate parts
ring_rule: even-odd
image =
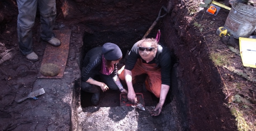
[[[168,49],[158,44],[156,39],[142,39],[133,45],[125,66],[119,71],[119,78],[125,80],[128,86],[128,100],[137,103],[133,89],[135,76],[147,74],[145,87],[152,92],[159,103],[154,108],[152,115],[161,113],[166,95],[171,84],[171,55]]]

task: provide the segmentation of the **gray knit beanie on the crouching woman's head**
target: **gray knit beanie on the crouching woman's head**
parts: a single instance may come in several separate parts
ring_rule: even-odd
[[[105,43],[102,46],[102,53],[106,60],[118,60],[123,55],[121,49],[113,43]]]

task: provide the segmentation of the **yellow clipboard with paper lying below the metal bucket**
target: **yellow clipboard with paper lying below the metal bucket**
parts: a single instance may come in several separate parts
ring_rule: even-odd
[[[239,37],[239,47],[243,65],[256,68],[256,39]]]

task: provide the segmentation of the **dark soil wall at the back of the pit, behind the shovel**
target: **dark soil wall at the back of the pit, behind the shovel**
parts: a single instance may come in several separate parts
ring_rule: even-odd
[[[57,22],[69,25],[82,23],[87,29],[85,32],[94,34],[98,32],[127,32],[127,34],[145,34],[152,22],[158,16],[159,9],[167,0],[71,0],[57,1],[57,5],[68,3],[62,11],[68,10],[66,16],[59,14]],[[60,3],[61,2],[61,3]],[[64,4],[65,5],[65,4]],[[153,6],[152,6],[153,5]],[[60,8],[58,9],[61,12]],[[125,15],[124,15],[125,14]],[[64,20],[63,20],[64,18]],[[126,37],[115,37],[123,41]],[[129,38],[128,38],[129,39]],[[139,39],[139,38],[134,38]],[[135,40],[136,41],[136,40]],[[133,41],[132,41],[133,42]]]

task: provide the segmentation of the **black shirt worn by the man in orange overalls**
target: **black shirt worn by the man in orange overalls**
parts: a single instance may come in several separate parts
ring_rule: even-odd
[[[145,60],[143,60],[140,57],[139,54],[139,48],[137,46],[137,43],[133,45],[133,48],[131,49],[129,56],[126,60],[126,66],[124,69],[127,69],[131,71],[133,67],[135,66],[135,63],[137,62],[137,59],[141,59],[143,63],[146,63]],[[171,84],[171,54],[168,51],[166,47],[159,44],[157,46],[157,53],[156,56],[152,61],[146,64],[153,64],[155,63],[157,66],[161,68],[161,80],[162,84],[169,85]]]

